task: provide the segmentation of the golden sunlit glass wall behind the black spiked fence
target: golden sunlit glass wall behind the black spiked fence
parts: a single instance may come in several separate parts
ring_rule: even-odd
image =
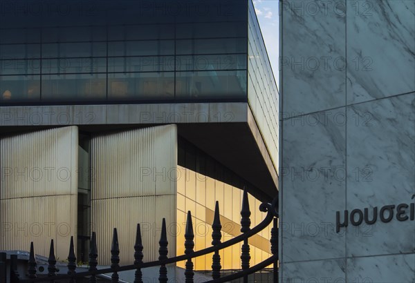
[[[252,188],[241,177],[201,152],[191,144],[181,141],[178,151],[177,176],[177,242],[176,255],[184,254],[185,223],[187,211],[192,213],[194,250],[212,246],[212,222],[216,200],[222,225],[222,242],[241,234],[242,189]],[[259,211],[259,200],[249,196],[251,227],[261,222],[265,213]],[[250,264],[258,264],[271,256],[270,226],[249,240]],[[225,248],[220,253],[223,270],[241,269],[241,243]],[[178,262],[185,268],[185,262]],[[194,268],[199,271],[212,269],[212,254],[196,257]]]

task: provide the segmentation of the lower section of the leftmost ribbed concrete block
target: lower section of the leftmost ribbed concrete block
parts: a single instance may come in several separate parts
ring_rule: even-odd
[[[0,209],[0,249],[29,251],[33,242],[35,253],[47,256],[53,239],[56,256],[68,256],[76,235],[77,195],[2,199]]]

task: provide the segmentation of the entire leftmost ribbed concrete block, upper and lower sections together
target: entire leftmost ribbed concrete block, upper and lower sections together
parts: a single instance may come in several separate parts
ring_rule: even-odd
[[[65,258],[77,224],[77,127],[0,139],[0,249]]]

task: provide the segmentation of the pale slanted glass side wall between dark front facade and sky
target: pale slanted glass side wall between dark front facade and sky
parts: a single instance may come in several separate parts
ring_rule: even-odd
[[[278,89],[252,1],[248,18],[248,101],[278,170]]]

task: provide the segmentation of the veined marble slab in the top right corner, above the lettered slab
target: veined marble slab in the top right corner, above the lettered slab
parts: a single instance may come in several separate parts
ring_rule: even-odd
[[[348,104],[415,91],[415,1],[347,1]]]

